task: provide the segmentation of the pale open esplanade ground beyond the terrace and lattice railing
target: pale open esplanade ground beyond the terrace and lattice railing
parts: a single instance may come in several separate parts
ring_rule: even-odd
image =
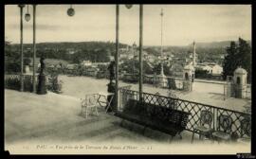
[[[64,95],[72,97],[84,97],[85,94],[98,93],[107,90],[107,79],[95,79],[89,77],[66,77],[61,76],[64,81]],[[138,84],[119,81],[119,86],[132,85],[132,90],[138,91]],[[174,91],[174,94],[182,99],[208,104],[220,108],[245,112],[251,107],[250,99],[229,97],[224,100],[224,86],[218,83],[194,82],[192,92]],[[162,96],[168,96],[168,89],[156,88],[151,84],[143,84],[143,92]]]

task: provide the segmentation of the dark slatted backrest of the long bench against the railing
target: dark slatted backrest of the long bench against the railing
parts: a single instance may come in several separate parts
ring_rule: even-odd
[[[185,129],[189,121],[190,113],[174,110],[171,108],[158,106],[147,102],[139,102],[135,99],[129,99],[123,110],[124,113],[139,115],[152,120],[175,125]]]

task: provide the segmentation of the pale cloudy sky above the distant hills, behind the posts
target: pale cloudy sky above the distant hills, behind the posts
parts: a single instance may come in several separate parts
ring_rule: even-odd
[[[38,5],[36,8],[36,42],[116,42],[116,5]],[[251,40],[250,5],[143,5],[143,45],[161,44],[163,9],[163,45]],[[31,44],[32,6],[29,22],[24,20],[24,43]],[[27,6],[24,14],[27,13]],[[119,5],[119,42],[138,45],[139,7]],[[20,43],[20,9],[5,6],[5,38]]]

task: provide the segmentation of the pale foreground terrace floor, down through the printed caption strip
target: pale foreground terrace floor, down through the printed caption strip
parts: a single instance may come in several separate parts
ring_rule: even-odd
[[[168,143],[169,135],[147,130],[143,135],[138,125],[105,114],[81,114],[80,98],[57,95],[21,93],[5,90],[5,150],[12,154],[235,154],[249,152],[250,144],[211,143],[199,141],[192,133],[182,132],[182,140]],[[133,131],[129,130],[134,126]]]

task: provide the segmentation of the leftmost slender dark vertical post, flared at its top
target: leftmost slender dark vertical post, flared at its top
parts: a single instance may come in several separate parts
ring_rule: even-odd
[[[25,5],[18,5],[20,8],[20,31],[21,31],[21,39],[20,39],[20,56],[21,56],[21,75],[20,75],[20,80],[21,80],[21,89],[20,91],[24,91],[24,80],[23,80],[23,8]]]

